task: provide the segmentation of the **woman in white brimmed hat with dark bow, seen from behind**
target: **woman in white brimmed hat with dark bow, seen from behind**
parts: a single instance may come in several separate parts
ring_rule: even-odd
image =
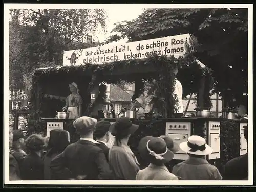
[[[187,152],[189,158],[173,167],[173,174],[183,180],[222,180],[219,170],[204,159],[212,153],[204,138],[198,135],[188,137],[180,143],[180,149]]]

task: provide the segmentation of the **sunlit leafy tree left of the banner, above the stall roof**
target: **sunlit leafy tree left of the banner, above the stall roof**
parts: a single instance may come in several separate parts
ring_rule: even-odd
[[[90,35],[99,26],[106,30],[103,9],[11,9],[10,14],[11,88],[28,87],[35,68],[60,65],[64,50],[89,47]]]

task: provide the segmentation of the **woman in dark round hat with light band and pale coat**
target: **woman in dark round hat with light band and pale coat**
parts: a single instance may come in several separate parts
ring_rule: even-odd
[[[140,140],[139,153],[150,165],[140,170],[136,180],[179,180],[170,173],[164,163],[174,158],[174,152],[179,151],[179,146],[169,136],[147,136]]]

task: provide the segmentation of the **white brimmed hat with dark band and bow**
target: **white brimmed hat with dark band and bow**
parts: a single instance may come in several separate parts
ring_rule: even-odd
[[[192,135],[188,137],[187,142],[180,143],[180,149],[194,155],[209,155],[212,153],[212,149],[206,144],[205,139],[198,135]]]

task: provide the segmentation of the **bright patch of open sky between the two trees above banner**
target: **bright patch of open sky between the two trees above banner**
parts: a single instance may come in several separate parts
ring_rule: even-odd
[[[123,9],[117,9],[116,7],[113,8],[108,8],[106,10],[106,13],[108,14],[108,19],[109,21],[107,22],[108,28],[107,28],[107,34],[97,34],[98,38],[95,37],[95,40],[99,40],[100,42],[103,42],[106,38],[108,38],[111,34],[110,32],[112,29],[115,27],[115,23],[120,22],[120,21],[130,21],[133,19],[136,19],[141,13],[143,12],[143,9],[141,7],[136,8],[136,7],[129,7],[129,8],[124,8]],[[121,41],[126,41],[120,40]]]

